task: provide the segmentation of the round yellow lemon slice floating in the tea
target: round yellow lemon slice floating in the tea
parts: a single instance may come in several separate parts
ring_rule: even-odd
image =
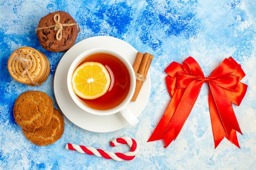
[[[96,99],[108,91],[110,81],[105,66],[98,62],[85,62],[75,69],[72,88],[83,99]]]

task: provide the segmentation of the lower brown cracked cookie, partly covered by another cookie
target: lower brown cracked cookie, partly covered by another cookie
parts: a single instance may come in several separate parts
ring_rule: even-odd
[[[53,144],[63,135],[65,123],[61,113],[54,108],[52,120],[43,129],[36,130],[34,132],[24,130],[25,137],[33,144],[39,146],[47,146]]]

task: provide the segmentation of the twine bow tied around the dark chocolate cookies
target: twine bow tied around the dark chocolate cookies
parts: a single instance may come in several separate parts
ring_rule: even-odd
[[[40,27],[40,28],[37,28],[36,31],[37,31],[37,30],[41,30],[41,29],[49,29],[49,28],[53,28],[53,27],[54,27],[54,31],[57,31],[57,33],[56,33],[56,39],[57,39],[57,40],[61,40],[61,38],[62,38],[63,26],[74,26],[74,25],[76,25],[76,26],[78,27],[78,32],[81,31],[80,26],[79,26],[79,24],[77,24],[77,23],[61,24],[61,23],[60,23],[60,20],[61,20],[60,14],[55,14],[54,17],[53,17],[53,20],[54,20],[54,22],[55,22],[55,25]]]

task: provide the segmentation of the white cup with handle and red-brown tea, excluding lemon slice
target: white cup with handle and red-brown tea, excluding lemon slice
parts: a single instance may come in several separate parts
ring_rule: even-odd
[[[108,91],[96,99],[83,99],[76,95],[72,87],[72,75],[75,69],[85,62],[101,63],[110,75]],[[135,73],[130,62],[123,55],[107,48],[95,48],[81,53],[72,62],[67,73],[67,88],[77,106],[94,115],[121,113],[132,127],[138,123],[138,120],[127,105],[132,99],[135,86]]]

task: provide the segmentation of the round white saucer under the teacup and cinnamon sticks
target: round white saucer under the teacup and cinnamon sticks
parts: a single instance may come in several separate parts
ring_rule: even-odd
[[[128,123],[120,113],[99,116],[85,112],[77,106],[67,90],[67,71],[73,60],[86,50],[109,48],[124,55],[133,64],[137,50],[130,44],[109,36],[97,36],[82,40],[71,47],[61,58],[54,76],[54,94],[63,114],[76,126],[92,132],[112,132],[124,128]],[[138,117],[145,108],[150,95],[150,75],[148,73],[136,102],[130,102],[128,108]]]

